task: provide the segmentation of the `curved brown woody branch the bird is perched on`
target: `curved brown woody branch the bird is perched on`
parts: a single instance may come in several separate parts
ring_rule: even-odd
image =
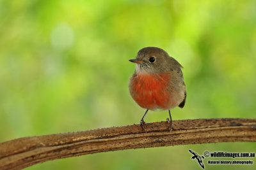
[[[0,169],[21,169],[47,160],[90,153],[196,143],[256,141],[256,119],[222,118],[109,127],[91,131],[49,134],[0,143]]]

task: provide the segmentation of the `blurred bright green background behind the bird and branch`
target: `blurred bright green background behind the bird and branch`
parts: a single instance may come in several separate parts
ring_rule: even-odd
[[[255,118],[256,1],[0,1],[0,142],[138,124],[128,81],[145,46],[184,66],[174,120]],[[146,122],[166,120],[150,111]],[[200,169],[192,149],[256,152],[255,143],[96,153],[28,169]],[[253,159],[250,159],[253,160]],[[207,169],[255,169],[210,166]],[[256,159],[254,159],[256,161]]]

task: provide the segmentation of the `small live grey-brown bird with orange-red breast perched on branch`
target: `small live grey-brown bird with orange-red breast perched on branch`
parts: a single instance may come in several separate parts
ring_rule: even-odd
[[[173,130],[170,109],[184,107],[186,101],[186,86],[181,68],[177,60],[167,52],[157,47],[142,48],[136,59],[129,60],[136,63],[134,74],[129,81],[129,91],[141,108],[147,109],[141,118],[140,125],[147,125],[144,117],[148,110],[169,110],[170,131]],[[147,132],[147,131],[145,131]]]

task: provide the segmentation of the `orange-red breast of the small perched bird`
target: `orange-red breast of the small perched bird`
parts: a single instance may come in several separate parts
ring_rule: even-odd
[[[141,108],[168,110],[177,105],[172,100],[170,72],[156,74],[134,74],[129,90],[132,98]]]

